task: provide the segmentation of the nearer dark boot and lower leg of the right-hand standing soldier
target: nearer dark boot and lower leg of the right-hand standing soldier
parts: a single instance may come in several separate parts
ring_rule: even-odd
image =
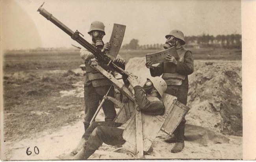
[[[182,122],[180,122],[180,124],[177,127],[177,143],[171,149],[172,153],[179,153],[184,148],[185,123],[186,120],[184,119],[182,120]]]

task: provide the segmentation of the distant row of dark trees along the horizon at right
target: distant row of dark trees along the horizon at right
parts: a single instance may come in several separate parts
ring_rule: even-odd
[[[200,36],[186,36],[184,39],[186,41],[186,47],[214,47],[214,48],[242,48],[240,34],[231,35],[200,35]],[[139,45],[138,39],[132,39],[129,44],[124,44],[122,49],[128,50],[154,50],[163,49],[162,44],[144,44]]]

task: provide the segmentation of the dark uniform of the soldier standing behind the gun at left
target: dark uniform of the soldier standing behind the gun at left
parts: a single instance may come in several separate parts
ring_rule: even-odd
[[[94,42],[91,44],[95,46]],[[99,101],[102,100],[103,96],[108,92],[110,83],[108,79],[106,79],[88,64],[88,61],[95,57],[91,52],[82,48],[80,50],[80,56],[84,60],[86,71],[84,82],[85,117],[83,122],[84,129],[86,130],[89,127],[90,121],[97,110]],[[117,58],[121,57],[118,55]],[[106,65],[101,66],[105,70],[111,70]],[[115,96],[114,87],[111,87],[108,96]],[[102,109],[105,114],[105,121],[113,121],[117,115],[114,104],[111,101],[106,100],[102,105]]]

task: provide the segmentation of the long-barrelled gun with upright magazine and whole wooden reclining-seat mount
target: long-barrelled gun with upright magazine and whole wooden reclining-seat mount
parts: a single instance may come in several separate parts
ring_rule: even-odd
[[[182,118],[188,112],[189,107],[186,107],[186,105],[178,102],[176,97],[169,94],[164,94],[163,101],[165,105],[165,113],[162,116],[152,116],[142,114],[141,111],[137,111],[135,109],[137,106],[135,96],[132,91],[128,89],[128,85],[126,83],[122,83],[119,81],[119,79],[113,76],[114,72],[118,72],[122,75],[122,79],[124,81],[128,77],[128,72],[124,71],[124,67],[119,67],[113,62],[120,50],[125,26],[114,24],[111,39],[109,41],[111,43],[111,49],[105,53],[83,39],[80,36],[82,34],[79,31],[76,30],[74,32],[69,29],[58,19],[53,17],[52,14],[43,9],[42,6],[43,4],[37,11],[39,11],[39,13],[47,20],[50,20],[53,24],[67,33],[73,40],[81,44],[89,52],[93,53],[96,59],[91,59],[88,64],[100,72],[100,74],[104,75],[104,77],[111,82],[111,85],[113,85],[123,94],[122,102],[107,95],[104,96],[102,101],[108,99],[120,108],[115,118],[115,122],[125,123],[128,119],[131,119],[123,133],[123,138],[126,140],[123,147],[135,153],[137,158],[143,158],[143,151],[148,151],[150,149],[150,146],[152,145],[152,142],[156,138],[160,129],[171,135]],[[150,57],[152,56],[153,58],[154,55],[150,55]],[[104,68],[100,66],[101,64],[111,67],[113,71],[109,72],[104,70]],[[100,103],[100,105],[101,104],[102,103]]]

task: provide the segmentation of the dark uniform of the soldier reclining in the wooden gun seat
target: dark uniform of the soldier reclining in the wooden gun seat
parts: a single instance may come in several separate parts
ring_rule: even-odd
[[[138,109],[143,113],[150,115],[164,114],[165,108],[160,98],[145,94],[143,88],[140,86],[134,87],[134,94],[138,103]],[[109,145],[124,144],[126,141],[122,138],[122,133],[130,120],[124,124],[115,122],[93,122],[82,137],[87,140],[84,150],[82,149],[83,159],[89,158],[103,142]]]

